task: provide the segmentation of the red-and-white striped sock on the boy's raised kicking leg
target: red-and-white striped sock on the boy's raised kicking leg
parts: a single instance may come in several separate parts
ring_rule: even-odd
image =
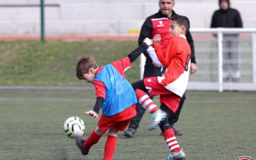
[[[145,92],[137,89],[135,93],[138,102],[141,104],[143,108],[147,109],[147,111],[149,111],[151,114],[157,111],[158,108],[156,104],[153,102],[152,99],[150,99],[150,97],[148,97],[148,95]]]

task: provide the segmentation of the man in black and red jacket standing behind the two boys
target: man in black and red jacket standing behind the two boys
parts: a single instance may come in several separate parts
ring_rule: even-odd
[[[147,17],[145,22],[143,23],[141,27],[140,37],[139,37],[139,44],[143,42],[145,38],[152,38],[154,35],[159,34],[161,35],[161,47],[163,47],[168,43],[168,40],[170,38],[170,17],[177,16],[177,13],[173,11],[174,7],[174,0],[159,0],[159,12],[155,13],[154,15],[151,15],[150,17]],[[191,36],[191,33],[188,31],[186,33],[186,38],[188,40],[189,46],[191,47],[191,67],[190,67],[190,73],[194,74],[197,70],[196,67],[196,61],[195,61],[195,49],[194,49],[194,42],[193,38]],[[149,47],[147,51],[143,52],[143,54],[146,56],[146,64],[145,64],[145,71],[143,74],[143,78],[145,77],[154,77],[154,76],[161,76],[164,74],[165,67],[156,67],[152,63],[152,59],[148,55],[148,52],[154,52],[154,48]],[[186,99],[186,95],[182,96],[182,99],[180,99],[179,108],[177,109],[175,115],[170,117],[169,124],[173,127],[173,124],[178,121],[180,110],[184,104],[184,100]],[[137,115],[134,116],[129,124],[128,129],[124,132],[124,136],[127,138],[132,138],[136,132],[136,129],[138,129],[141,118],[143,117],[145,113],[145,109],[140,105],[136,104],[136,113]],[[173,131],[175,132],[176,136],[181,136],[182,133],[177,131],[173,128]]]

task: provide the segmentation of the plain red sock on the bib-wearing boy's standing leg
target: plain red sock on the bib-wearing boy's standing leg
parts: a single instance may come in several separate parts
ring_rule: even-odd
[[[104,152],[104,159],[103,160],[111,160],[114,156],[116,149],[116,137],[115,136],[108,136],[108,139],[105,144],[105,152]]]

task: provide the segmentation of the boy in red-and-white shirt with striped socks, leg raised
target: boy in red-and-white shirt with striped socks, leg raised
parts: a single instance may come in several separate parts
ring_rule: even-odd
[[[189,30],[188,18],[184,16],[172,17],[170,25],[170,33],[173,36],[170,37],[164,50],[159,44],[161,36],[154,35],[152,42],[156,52],[148,52],[154,65],[165,66],[166,72],[163,76],[148,77],[138,81],[132,84],[132,87],[138,102],[147,110],[154,108],[154,104],[145,92],[149,92],[152,96],[160,95],[161,110],[159,110],[166,113],[167,116],[163,119],[160,116],[156,117],[154,121],[157,123],[152,123],[151,127],[153,129],[160,120],[159,127],[171,152],[167,159],[177,160],[185,159],[186,155],[180,149],[173,129],[168,124],[168,118],[174,116],[179,107],[180,98],[188,85],[191,49],[185,36],[186,31]]]

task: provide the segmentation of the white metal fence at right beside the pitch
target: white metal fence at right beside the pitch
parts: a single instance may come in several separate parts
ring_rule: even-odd
[[[256,91],[256,29],[191,29],[196,74],[187,90]],[[141,75],[145,57],[141,57]]]

